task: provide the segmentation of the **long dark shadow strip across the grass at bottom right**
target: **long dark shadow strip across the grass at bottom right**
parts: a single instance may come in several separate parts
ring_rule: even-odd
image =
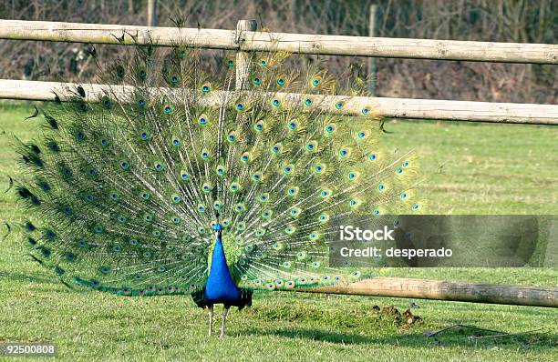
[[[548,329],[547,329],[548,331]],[[381,332],[380,332],[381,333]],[[302,338],[318,342],[328,342],[341,345],[380,344],[395,347],[470,347],[474,349],[499,347],[501,349],[530,349],[533,347],[553,349],[558,341],[558,334],[553,331],[544,333],[526,333],[508,337],[486,337],[480,339],[471,336],[489,336],[487,333],[473,333],[465,329],[440,334],[436,337],[426,337],[421,332],[384,336],[366,336],[353,333],[342,333],[315,328],[283,328],[277,330],[245,329],[239,336],[272,336],[285,338]]]

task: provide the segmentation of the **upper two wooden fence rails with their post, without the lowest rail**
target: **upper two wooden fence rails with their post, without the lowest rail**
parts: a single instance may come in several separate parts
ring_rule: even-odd
[[[237,68],[237,85],[243,84],[246,73],[242,66],[246,63],[245,52],[274,49],[301,54],[558,65],[558,45],[267,33],[256,32],[255,28],[253,20],[241,20],[236,30],[0,20],[0,39],[160,46],[182,41],[202,48],[237,50],[237,64],[241,65]],[[1,81],[0,98],[51,99],[44,87],[52,85],[16,83]],[[378,116],[394,118],[558,125],[556,105],[361,97],[354,105],[344,107],[343,114],[357,114],[363,104],[374,106]]]

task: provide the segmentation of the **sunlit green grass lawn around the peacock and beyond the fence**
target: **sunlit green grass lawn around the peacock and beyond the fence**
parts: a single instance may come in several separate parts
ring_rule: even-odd
[[[0,189],[14,176],[8,134],[34,136],[24,121],[32,106],[0,108]],[[387,141],[420,156],[421,194],[438,214],[557,214],[558,130],[548,126],[435,122],[387,124]],[[1,133],[1,131],[0,131]],[[0,220],[21,217],[11,194],[0,192]],[[14,231],[0,242],[0,341],[51,341],[66,360],[432,360],[553,361],[558,313],[511,307],[417,300],[422,322],[401,328],[373,306],[408,299],[258,293],[252,308],[230,315],[230,337],[207,337],[207,316],[190,297],[127,298],[71,291],[26,256]],[[386,269],[382,276],[555,286],[551,268]],[[517,337],[468,338],[423,332],[460,323]],[[2,359],[2,357],[0,357]]]

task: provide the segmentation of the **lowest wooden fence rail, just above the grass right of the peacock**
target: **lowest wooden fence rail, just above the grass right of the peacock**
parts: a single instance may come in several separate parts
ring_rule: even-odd
[[[453,300],[532,307],[558,307],[558,287],[470,284],[398,277],[375,277],[353,284],[331,287],[305,287],[295,289],[295,291],[356,296]]]

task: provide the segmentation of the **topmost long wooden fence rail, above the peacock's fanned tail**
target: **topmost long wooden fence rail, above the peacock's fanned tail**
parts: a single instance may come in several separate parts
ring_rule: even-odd
[[[135,37],[136,39],[134,39]],[[221,29],[100,25],[0,20],[0,39],[51,42],[192,46],[243,51],[285,50],[319,55],[360,55],[477,62],[558,64],[558,45],[307,35]]]

